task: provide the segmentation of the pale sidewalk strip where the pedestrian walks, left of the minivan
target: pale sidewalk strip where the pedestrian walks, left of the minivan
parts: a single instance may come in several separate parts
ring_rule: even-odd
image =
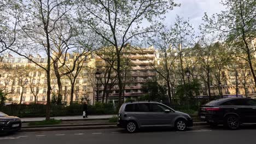
[[[88,118],[83,118],[83,116],[59,116],[59,117],[50,117],[54,119],[61,119],[63,121],[72,121],[72,120],[92,120],[92,119],[109,119],[114,115],[89,115]],[[45,117],[30,117],[30,118],[21,118],[21,122],[34,122],[34,121],[43,121]]]

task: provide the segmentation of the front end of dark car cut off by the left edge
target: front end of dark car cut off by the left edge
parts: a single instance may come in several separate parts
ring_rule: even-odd
[[[0,133],[10,133],[18,131],[21,128],[21,121],[19,117],[8,116],[0,112]]]

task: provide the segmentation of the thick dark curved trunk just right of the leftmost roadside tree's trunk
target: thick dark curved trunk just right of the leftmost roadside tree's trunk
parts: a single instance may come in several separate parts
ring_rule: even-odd
[[[59,89],[59,92],[58,92],[58,95],[57,95],[57,104],[61,104],[63,90],[62,90],[61,76],[60,76],[60,73],[59,73],[59,70],[58,70],[57,61],[55,61],[53,65],[54,65],[54,73],[55,73],[55,76],[56,76],[56,79],[57,79],[57,85],[58,85],[58,89]]]

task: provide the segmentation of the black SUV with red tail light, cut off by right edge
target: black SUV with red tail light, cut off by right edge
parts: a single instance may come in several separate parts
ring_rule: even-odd
[[[224,98],[213,100],[200,107],[199,116],[211,126],[224,124],[238,129],[242,123],[256,123],[256,100],[249,98]]]

